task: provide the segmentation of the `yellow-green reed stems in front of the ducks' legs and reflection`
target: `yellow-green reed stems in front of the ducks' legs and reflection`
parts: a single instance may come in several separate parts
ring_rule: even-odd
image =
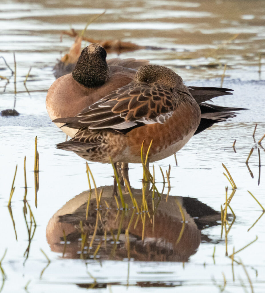
[[[114,176],[116,178],[116,182],[118,184],[118,197],[116,195],[114,195],[114,199],[116,202],[116,216],[115,216],[115,222],[119,219],[119,223],[118,223],[118,228],[117,231],[115,231],[115,235],[112,231],[112,229],[109,229],[109,233],[111,234],[111,238],[113,241],[113,246],[111,249],[111,253],[110,253],[110,258],[114,258],[115,256],[115,251],[117,249],[117,245],[119,243],[119,237],[120,237],[120,233],[122,231],[122,229],[124,229],[123,227],[123,223],[124,223],[124,218],[125,215],[128,214],[129,211],[129,206],[132,207],[133,212],[130,216],[130,220],[128,223],[128,226],[125,228],[125,242],[126,242],[126,247],[127,247],[127,254],[128,254],[128,259],[130,259],[130,241],[129,241],[129,230],[130,228],[133,226],[134,229],[137,226],[138,222],[141,221],[142,222],[142,240],[144,240],[145,237],[145,226],[147,221],[150,221],[150,223],[152,223],[152,227],[154,230],[154,215],[158,209],[159,203],[161,201],[161,195],[164,191],[165,188],[165,184],[166,184],[166,180],[168,183],[168,192],[167,192],[167,197],[169,195],[169,191],[170,191],[170,166],[169,169],[166,171],[166,176],[164,175],[162,168],[160,167],[160,171],[162,173],[162,177],[163,177],[163,188],[162,188],[162,192],[159,192],[157,187],[156,187],[156,182],[155,182],[155,176],[154,176],[154,166],[153,166],[153,174],[150,173],[149,171],[149,163],[148,163],[148,154],[150,151],[150,148],[152,146],[152,142],[150,143],[150,146],[147,150],[147,154],[144,157],[143,156],[143,146],[144,146],[144,142],[142,144],[142,148],[141,148],[141,159],[142,159],[142,169],[143,169],[143,179],[142,179],[142,202],[141,204],[139,204],[139,202],[137,203],[136,198],[133,195],[132,189],[128,183],[128,181],[126,180],[126,178],[124,179],[124,184],[127,187],[128,193],[130,195],[130,203],[129,202],[125,202],[124,199],[124,194],[123,194],[123,187],[121,186],[120,180],[119,180],[119,176],[117,173],[117,170],[113,164],[112,159],[110,158],[110,162],[111,165],[113,167],[113,172],[114,172]],[[89,184],[89,195],[88,195],[88,201],[87,201],[87,206],[86,206],[86,220],[88,218],[89,215],[89,209],[90,207],[90,202],[91,202],[91,194],[92,194],[92,188],[91,188],[91,181],[93,182],[94,185],[94,193],[95,193],[95,197],[96,197],[96,221],[94,224],[94,231],[93,233],[91,233],[91,235],[88,235],[88,231],[87,229],[84,229],[84,223],[82,221],[80,221],[79,223],[79,227],[80,227],[80,232],[81,232],[81,249],[80,249],[80,258],[87,258],[87,257],[93,257],[96,258],[98,251],[100,250],[101,246],[104,244],[104,246],[106,247],[106,239],[107,239],[107,229],[105,227],[104,230],[104,240],[101,240],[98,245],[96,246],[94,253],[90,253],[90,255],[87,255],[86,249],[88,248],[88,250],[91,251],[91,249],[93,248],[93,244],[94,244],[94,240],[97,234],[97,230],[98,230],[98,225],[99,223],[103,223],[102,220],[102,204],[101,204],[101,199],[102,199],[102,194],[103,194],[103,189],[101,189],[100,192],[98,192],[97,187],[96,187],[96,183],[95,183],[95,179],[94,176],[91,172],[91,169],[89,167],[89,165],[86,163],[86,173],[87,173],[87,178],[88,178],[88,184]],[[165,177],[167,179],[165,179]],[[151,188],[150,188],[151,186]],[[152,198],[152,208],[150,209],[150,207],[148,207],[147,205],[147,197]],[[166,200],[167,200],[166,197]],[[128,198],[128,197],[126,197]],[[177,202],[177,200],[176,200]],[[178,204],[178,202],[177,202]],[[110,211],[111,207],[108,205],[108,202],[105,200],[105,205],[106,205],[106,214],[103,215],[103,218],[106,218],[106,215],[108,214],[108,212]],[[176,241],[176,244],[179,243],[181,236],[183,234],[184,228],[185,228],[185,217],[184,217],[184,213],[182,211],[182,207],[180,204],[178,204],[179,209],[181,211],[181,215],[183,215],[183,226],[181,229],[181,233],[179,235],[178,240]],[[105,210],[105,209],[104,209]],[[90,237],[89,237],[90,236]],[[89,240],[88,240],[89,239]],[[67,243],[67,237],[65,236],[64,233],[64,253],[65,253],[65,246]],[[63,254],[64,254],[63,253]]]

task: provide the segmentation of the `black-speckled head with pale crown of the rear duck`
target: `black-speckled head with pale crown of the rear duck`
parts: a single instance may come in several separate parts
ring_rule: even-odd
[[[85,47],[72,71],[73,78],[87,88],[102,86],[110,76],[107,52],[97,43]]]

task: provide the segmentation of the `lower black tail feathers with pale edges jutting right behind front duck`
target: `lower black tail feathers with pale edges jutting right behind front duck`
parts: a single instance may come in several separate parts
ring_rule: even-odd
[[[201,122],[195,134],[211,127],[213,124],[229,120],[237,115],[234,111],[246,110],[245,108],[222,107],[208,103],[199,104],[201,109]]]

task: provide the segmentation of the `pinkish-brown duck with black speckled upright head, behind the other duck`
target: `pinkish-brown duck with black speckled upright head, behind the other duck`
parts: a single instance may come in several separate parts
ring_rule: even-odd
[[[46,97],[47,112],[52,120],[73,117],[112,91],[129,84],[148,60],[113,58],[106,61],[106,50],[93,43],[81,52],[70,74],[61,76],[51,85]],[[56,123],[58,127],[62,123]],[[71,128],[62,130],[73,137]]]

